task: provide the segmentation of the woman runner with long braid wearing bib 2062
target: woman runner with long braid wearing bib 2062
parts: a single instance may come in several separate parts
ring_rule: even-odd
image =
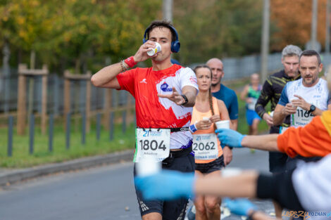
[[[195,174],[220,176],[220,170],[225,164],[220,141],[215,134],[215,122],[230,120],[230,117],[223,101],[211,95],[211,69],[207,65],[199,65],[194,72],[199,86],[190,127],[193,131]],[[197,195],[194,200],[196,220],[219,220],[220,204],[219,197]]]

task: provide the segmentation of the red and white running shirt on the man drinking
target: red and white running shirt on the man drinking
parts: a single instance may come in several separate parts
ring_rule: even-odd
[[[192,108],[176,105],[160,94],[173,93],[173,87],[182,93],[184,86],[198,89],[196,76],[189,67],[172,65],[165,70],[153,71],[149,68],[135,68],[121,72],[118,76],[120,89],[129,91],[135,97],[137,127],[176,128],[189,127]],[[190,131],[172,132],[170,149],[185,148],[192,141]]]

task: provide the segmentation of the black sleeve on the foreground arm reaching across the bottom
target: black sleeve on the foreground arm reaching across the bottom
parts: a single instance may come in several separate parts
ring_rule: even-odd
[[[260,174],[256,186],[256,197],[273,199],[286,209],[305,211],[292,184],[293,172],[294,169],[289,172],[274,174],[273,176]]]

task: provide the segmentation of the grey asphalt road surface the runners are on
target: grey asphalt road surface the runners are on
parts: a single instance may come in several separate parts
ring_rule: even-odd
[[[235,149],[230,167],[268,172],[268,153]],[[132,177],[127,162],[6,186],[0,190],[0,220],[140,219]],[[254,202],[273,212],[270,201]]]

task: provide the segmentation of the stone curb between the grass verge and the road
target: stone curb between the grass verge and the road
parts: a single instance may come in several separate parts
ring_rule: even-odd
[[[17,171],[0,174],[0,186],[6,186],[8,183],[15,183],[32,179],[38,176],[54,174],[58,172],[68,172],[75,169],[85,169],[96,167],[103,164],[113,164],[121,161],[130,161],[134,155],[134,150],[125,150],[123,152],[111,153],[108,155],[85,157],[58,164],[46,164],[39,167],[20,169]]]

